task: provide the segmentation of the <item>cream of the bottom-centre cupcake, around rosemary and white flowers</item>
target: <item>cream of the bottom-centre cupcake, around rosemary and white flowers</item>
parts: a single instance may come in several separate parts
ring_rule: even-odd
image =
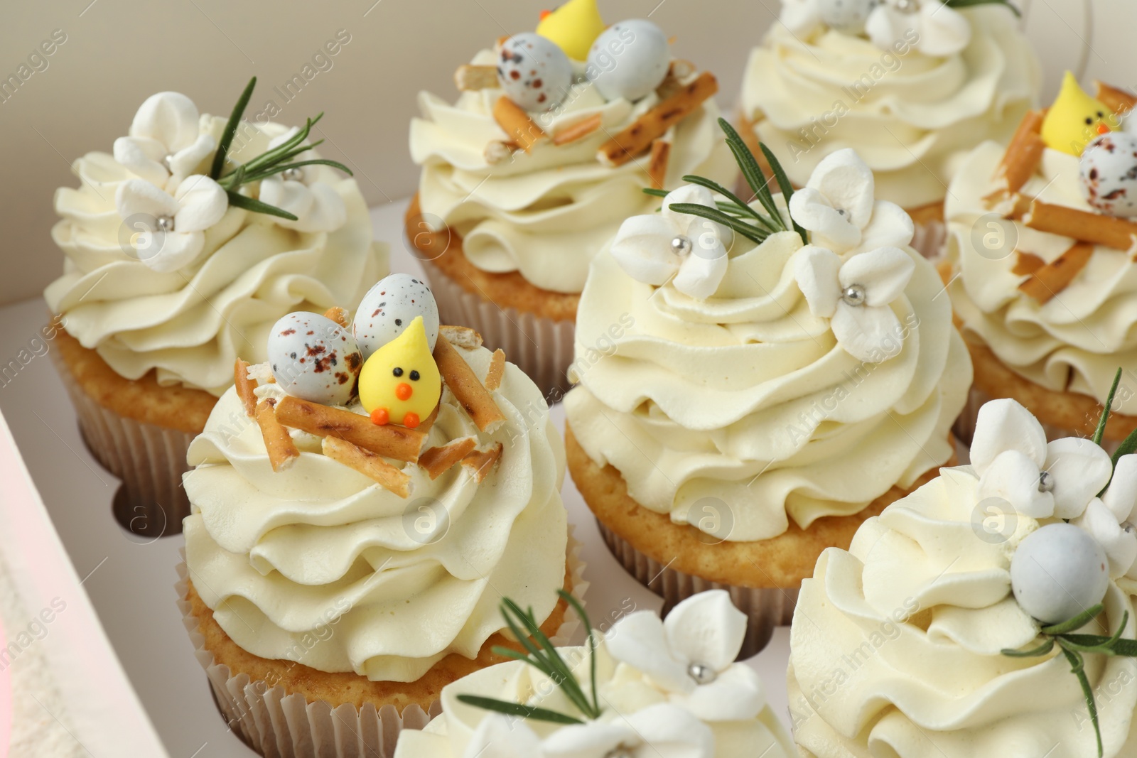
[[[589,656],[587,648],[561,648],[576,678],[588,691]],[[626,664],[616,664],[607,649],[597,650],[597,686],[599,700],[609,714],[628,716],[653,705],[667,701],[666,693],[648,677]],[[498,664],[464,676],[442,690],[442,715],[418,732],[399,734],[395,758],[464,758],[479,724],[489,711],[458,700],[459,694],[475,694],[509,702],[548,708],[562,714],[576,710],[559,689],[543,674],[521,661]],[[604,717],[601,717],[603,720]],[[528,719],[524,722],[545,739],[564,728],[556,724]],[[714,758],[790,758],[792,744],[785,727],[769,706],[749,720],[704,722],[714,735]],[[650,742],[649,734],[645,735]],[[649,755],[655,755],[647,749]]]

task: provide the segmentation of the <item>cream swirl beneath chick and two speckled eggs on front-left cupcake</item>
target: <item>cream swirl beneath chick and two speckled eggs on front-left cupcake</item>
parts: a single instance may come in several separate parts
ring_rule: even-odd
[[[459,353],[489,369],[488,350]],[[183,531],[190,580],[225,633],[263,658],[413,682],[449,653],[475,657],[503,627],[503,594],[546,618],[565,583],[564,448],[512,364],[493,398],[506,423],[488,434],[443,391],[424,449],[500,442],[496,472],[479,484],[455,466],[431,481],[393,461],[410,475],[401,499],[302,432],[300,457],[274,473],[235,391],[222,395],[190,447]]]

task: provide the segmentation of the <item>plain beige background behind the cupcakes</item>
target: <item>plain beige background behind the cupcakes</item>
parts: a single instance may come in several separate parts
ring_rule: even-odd
[[[558,3],[5,1],[0,80],[22,73],[26,81],[14,94],[0,97],[0,303],[38,297],[58,274],[61,256],[49,236],[52,192],[77,184],[70,175],[73,158],[91,150],[109,152],[149,94],[176,90],[205,113],[227,114],[256,75],[250,113],[267,100],[281,107],[276,120],[287,124],[326,111],[319,125],[327,140],[322,152],[351,166],[367,200],[377,205],[415,189],[417,172],[406,147],[415,93],[429,89],[455,95],[451,77],[458,64],[500,35],[532,30],[541,9]],[[1132,0],[1094,0],[1088,9],[1084,0],[1020,5],[1028,33],[1044,51],[1048,93],[1063,68],[1084,59],[1087,78],[1137,84]],[[779,0],[600,0],[608,22],[650,15],[675,35],[678,56],[720,76],[720,102],[728,106],[737,97],[748,50],[779,7]],[[53,32],[66,41],[43,56],[40,44]],[[274,91],[313,64],[314,53],[338,32],[350,41],[334,57],[317,61],[324,70],[313,65],[316,75],[294,99],[285,101]],[[40,57],[30,61],[36,52]],[[24,72],[18,70],[22,65],[27,66]]]

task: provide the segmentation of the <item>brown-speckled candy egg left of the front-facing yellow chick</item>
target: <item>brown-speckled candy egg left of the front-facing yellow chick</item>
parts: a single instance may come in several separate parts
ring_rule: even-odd
[[[293,398],[342,406],[351,398],[363,356],[346,328],[317,314],[282,317],[268,333],[268,363]]]

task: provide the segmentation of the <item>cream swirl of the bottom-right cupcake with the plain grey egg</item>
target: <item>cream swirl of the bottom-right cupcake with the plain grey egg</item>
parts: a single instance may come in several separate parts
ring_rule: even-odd
[[[1037,647],[1038,623],[1011,594],[1010,566],[1039,522],[1010,516],[998,533],[986,528],[978,481],[970,466],[943,469],[866,520],[848,552],[823,552],[803,583],[790,630],[789,700],[804,755],[1097,755],[1081,689],[1061,651],[1001,652]],[[1121,582],[1110,583],[1098,622],[1115,632],[1128,611],[1124,636],[1132,639],[1135,588]],[[1105,756],[1135,755],[1137,661],[1085,659]]]

